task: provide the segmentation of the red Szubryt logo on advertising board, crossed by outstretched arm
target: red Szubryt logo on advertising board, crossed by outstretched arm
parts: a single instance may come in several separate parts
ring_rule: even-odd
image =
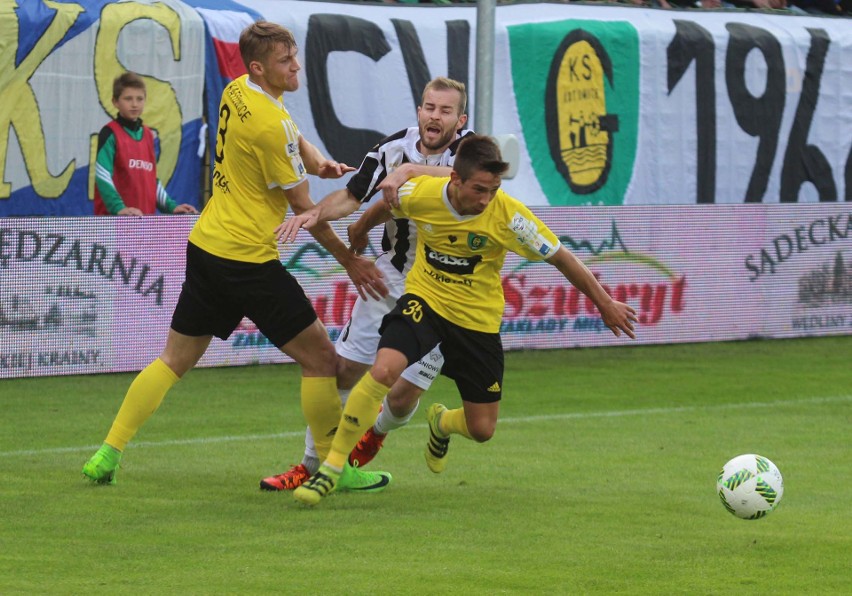
[[[636,309],[639,325],[653,327],[685,310],[686,276],[653,255],[630,251],[615,221],[607,238],[577,240],[566,235],[559,240],[580,257],[590,254],[583,258],[585,264],[607,294]],[[618,267],[611,266],[614,264]],[[554,276],[542,275],[542,267],[524,261],[503,277],[506,309],[501,332],[609,333],[591,300],[561,276],[560,283],[553,283]]]

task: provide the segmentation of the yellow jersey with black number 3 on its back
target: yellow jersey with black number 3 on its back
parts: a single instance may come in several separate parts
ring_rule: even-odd
[[[305,182],[299,128],[281,102],[243,75],[219,104],[213,195],[189,241],[249,263],[278,259],[275,227],[287,214],[283,189]]]

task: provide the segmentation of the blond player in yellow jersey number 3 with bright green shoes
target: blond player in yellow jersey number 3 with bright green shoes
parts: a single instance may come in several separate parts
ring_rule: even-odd
[[[242,32],[239,46],[248,74],[222,94],[213,196],[189,235],[186,279],[165,348],[133,381],[104,445],[83,467],[100,484],[115,483],[124,448],[213,336],[227,339],[245,316],[301,366],[302,410],[323,457],[340,418],[334,346],[281,264],[275,229],[288,206],[296,213],[313,206],[307,174],[338,178],[354,168],[326,159],[284,107],[283,94],[299,87],[292,33],[257,22]],[[328,224],[312,234],[346,267],[359,293],[387,293],[375,265],[351,253]],[[389,480],[348,468],[341,488],[379,490]]]

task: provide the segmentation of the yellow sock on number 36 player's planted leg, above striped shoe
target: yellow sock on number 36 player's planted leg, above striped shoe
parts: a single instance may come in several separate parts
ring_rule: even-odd
[[[376,381],[370,373],[361,377],[346,400],[343,418],[340,420],[340,427],[334,436],[326,463],[343,469],[358,439],[376,422],[379,406],[389,390],[390,387]]]

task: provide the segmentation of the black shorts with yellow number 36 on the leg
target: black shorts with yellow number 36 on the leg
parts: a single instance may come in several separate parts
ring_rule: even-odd
[[[499,333],[459,327],[414,294],[400,296],[379,331],[379,348],[402,352],[409,365],[440,343],[444,355],[441,374],[456,382],[463,400],[484,404],[502,397],[503,342]]]

